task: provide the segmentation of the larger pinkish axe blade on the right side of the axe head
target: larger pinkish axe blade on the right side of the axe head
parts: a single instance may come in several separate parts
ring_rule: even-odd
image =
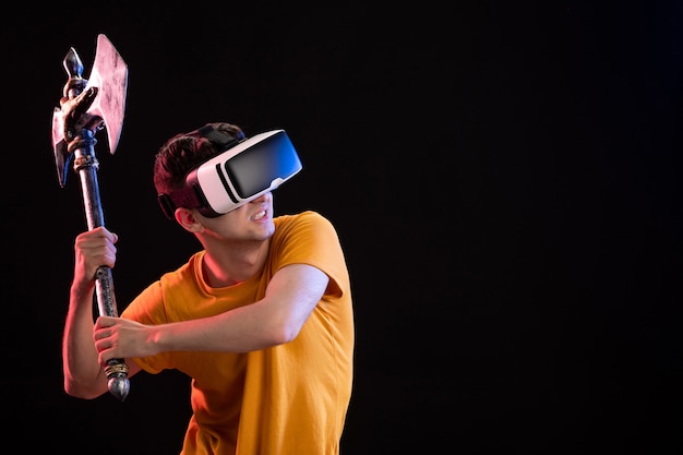
[[[98,93],[87,112],[101,117],[107,129],[109,153],[113,155],[123,128],[128,65],[104,34],[97,36],[95,62],[85,89],[92,86],[97,87]]]

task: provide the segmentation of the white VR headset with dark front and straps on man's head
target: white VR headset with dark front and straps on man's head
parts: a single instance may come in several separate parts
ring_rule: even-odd
[[[296,176],[301,160],[285,130],[273,130],[250,139],[233,139],[207,124],[197,130],[219,154],[196,166],[185,177],[185,188],[157,200],[168,219],[177,207],[199,208],[215,218]]]

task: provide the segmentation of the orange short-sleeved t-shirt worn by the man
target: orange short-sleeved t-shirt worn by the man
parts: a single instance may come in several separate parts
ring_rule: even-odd
[[[245,354],[161,352],[134,359],[158,373],[192,378],[192,410],[182,454],[336,455],[351,395],[354,313],[346,261],[333,225],[315,212],[275,218],[261,274],[212,288],[204,251],[143,290],[121,318],[165,324],[218,314],[262,299],[288,264],[310,264],[331,280],[290,343]]]

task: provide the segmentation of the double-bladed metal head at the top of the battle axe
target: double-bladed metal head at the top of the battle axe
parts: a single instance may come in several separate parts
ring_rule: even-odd
[[[95,62],[87,81],[81,77],[83,64],[73,48],[63,63],[70,79],[61,108],[56,107],[52,113],[52,147],[61,187],[71,163],[69,143],[74,139],[70,137],[74,129],[99,130],[104,125],[109,153],[113,155],[121,137],[128,88],[128,65],[103,34],[97,36]]]

